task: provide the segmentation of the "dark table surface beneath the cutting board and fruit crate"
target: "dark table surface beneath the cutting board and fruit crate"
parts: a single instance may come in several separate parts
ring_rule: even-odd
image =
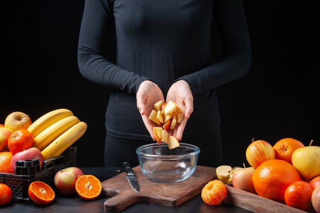
[[[110,177],[113,177],[117,174],[123,172],[122,168],[80,168],[84,174],[95,175],[100,181],[104,181]],[[30,202],[20,202],[20,201],[11,201],[7,205],[0,206],[1,213],[15,213],[15,212],[23,212],[23,213],[51,213],[51,212],[68,212],[68,213],[94,213],[94,212],[105,212],[104,211],[104,201],[108,198],[99,196],[93,200],[83,200],[78,195],[72,197],[63,197],[56,193],[56,197],[53,202],[46,205],[38,205]],[[121,211],[123,213],[133,213],[133,212],[152,212],[152,213],[209,213],[209,212],[228,212],[228,213],[244,213],[250,212],[243,208],[228,204],[228,203],[220,203],[216,206],[210,206],[205,204],[201,195],[198,194],[191,198],[190,200],[182,203],[179,206],[165,206],[159,204],[152,203],[137,203],[129,206],[128,208]]]

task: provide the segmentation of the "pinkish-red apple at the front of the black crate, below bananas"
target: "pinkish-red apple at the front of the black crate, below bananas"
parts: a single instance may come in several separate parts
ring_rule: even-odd
[[[15,169],[16,169],[16,166],[15,166],[16,161],[18,161],[18,160],[32,160],[32,159],[39,159],[39,165],[40,165],[40,169],[41,169],[42,163],[43,163],[43,156],[42,156],[42,153],[39,149],[32,147],[27,150],[15,153],[11,159],[11,167],[12,167],[13,172],[15,172]]]

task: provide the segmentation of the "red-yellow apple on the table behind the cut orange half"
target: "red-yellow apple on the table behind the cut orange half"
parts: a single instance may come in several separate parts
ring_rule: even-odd
[[[77,167],[69,167],[60,170],[54,176],[54,184],[57,191],[62,195],[76,194],[76,181],[83,172]]]

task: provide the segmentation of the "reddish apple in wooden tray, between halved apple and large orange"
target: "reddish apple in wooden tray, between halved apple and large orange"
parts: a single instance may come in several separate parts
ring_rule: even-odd
[[[232,176],[232,185],[240,190],[256,193],[254,183],[252,182],[252,175],[256,169],[253,167],[246,167],[241,170],[236,170]]]

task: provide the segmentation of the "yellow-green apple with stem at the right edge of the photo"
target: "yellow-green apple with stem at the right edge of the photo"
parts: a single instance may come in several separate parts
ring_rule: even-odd
[[[320,175],[320,147],[311,146],[301,147],[292,153],[292,165],[298,170],[301,177],[311,180]]]

